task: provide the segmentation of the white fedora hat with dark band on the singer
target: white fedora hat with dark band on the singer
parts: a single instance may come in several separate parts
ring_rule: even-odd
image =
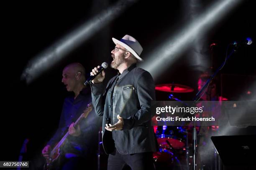
[[[125,47],[126,50],[131,52],[134,55],[134,57],[136,57],[139,61],[143,61],[143,59],[139,57],[139,55],[141,55],[143,48],[135,38],[133,38],[130,35],[125,35],[120,41],[115,38],[112,38],[112,40],[115,43],[115,45],[122,45],[123,47]]]

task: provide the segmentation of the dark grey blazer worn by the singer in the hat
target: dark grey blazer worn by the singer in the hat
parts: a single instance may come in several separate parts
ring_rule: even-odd
[[[121,154],[157,150],[157,141],[151,126],[151,118],[154,116],[151,115],[151,100],[155,100],[155,85],[149,72],[131,65],[122,74],[110,79],[107,85],[102,82],[91,84],[91,87],[95,112],[103,116],[102,143],[105,153],[110,154],[114,147]],[[105,129],[105,124],[112,119],[111,109],[113,124],[118,122],[118,114],[123,117],[123,130],[110,132]]]

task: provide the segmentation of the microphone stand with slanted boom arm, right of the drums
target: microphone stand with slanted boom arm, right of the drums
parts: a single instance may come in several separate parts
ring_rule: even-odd
[[[202,97],[202,93],[206,90],[206,88],[208,87],[208,85],[210,84],[210,82],[213,80],[213,78],[217,75],[217,73],[222,69],[222,67],[225,65],[226,61],[229,59],[229,57],[236,51],[235,48],[232,49],[232,51],[230,52],[230,54],[228,55],[228,57],[226,57],[225,61],[220,65],[220,67],[218,67],[218,69],[210,76],[210,78],[207,80],[207,82],[205,83],[205,85],[201,88],[201,90],[199,92],[197,92],[194,101],[197,102],[201,97]],[[197,142],[197,131],[196,131],[196,126],[195,126],[195,122],[194,122],[194,127],[193,127],[193,131],[192,131],[192,139],[193,139],[193,170],[196,169],[196,162],[195,162],[195,158],[196,158],[196,142]]]

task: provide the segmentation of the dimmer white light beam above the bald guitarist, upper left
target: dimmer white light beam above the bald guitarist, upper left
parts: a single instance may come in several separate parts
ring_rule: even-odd
[[[79,47],[97,31],[117,18],[136,1],[137,0],[118,1],[112,7],[96,15],[79,28],[64,36],[61,40],[55,42],[48,49],[33,57],[23,70],[21,80],[26,80],[27,84],[31,83],[50,67],[54,67],[54,65],[67,56],[69,52]]]

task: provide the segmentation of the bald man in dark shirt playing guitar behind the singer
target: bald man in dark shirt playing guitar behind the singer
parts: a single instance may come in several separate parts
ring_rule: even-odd
[[[80,63],[72,63],[64,68],[61,82],[73,95],[65,98],[59,128],[42,150],[44,158],[48,159],[51,149],[68,130],[69,137],[61,148],[60,161],[55,161],[54,169],[81,169],[86,167],[86,162],[97,165],[97,132],[101,123],[100,118],[92,113],[94,109],[74,128],[74,122],[92,100],[90,88],[84,86],[84,81],[85,69]]]

